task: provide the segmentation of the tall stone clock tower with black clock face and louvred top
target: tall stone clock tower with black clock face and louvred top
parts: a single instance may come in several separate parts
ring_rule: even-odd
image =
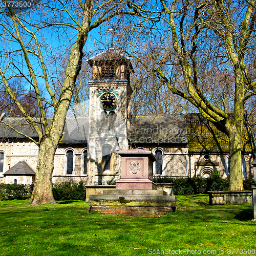
[[[127,107],[132,93],[131,60],[114,48],[88,59],[92,68],[89,103],[88,181],[119,179],[118,151],[128,149]]]

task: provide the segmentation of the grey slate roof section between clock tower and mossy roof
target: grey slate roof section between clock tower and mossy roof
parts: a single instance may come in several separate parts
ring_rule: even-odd
[[[141,115],[131,121],[133,143],[187,143],[184,115]]]

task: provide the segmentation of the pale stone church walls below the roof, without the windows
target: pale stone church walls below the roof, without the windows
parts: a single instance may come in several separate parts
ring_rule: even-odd
[[[150,150],[153,153],[159,149],[163,152],[163,172],[162,175],[155,175],[161,177],[195,177],[207,176],[207,171],[210,169],[218,170],[223,178],[226,176],[225,164],[227,154],[209,154],[209,160],[205,160],[205,154],[188,154],[186,145],[175,145],[168,147],[168,145],[139,145],[139,148]],[[86,144],[80,145],[65,145],[60,144],[57,148],[54,158],[53,182],[74,181],[90,182],[89,175],[83,174],[83,150],[87,149]],[[71,175],[66,172],[66,153],[68,150],[74,152],[74,171]],[[0,173],[0,182],[13,183],[14,176],[4,177],[3,174],[21,160],[25,160],[35,171],[38,156],[38,147],[29,141],[19,140],[13,142],[0,142],[0,152],[5,155],[4,172]],[[94,182],[99,180],[110,181],[120,179],[120,157],[116,152],[113,153],[111,161],[111,172],[104,174],[96,174]],[[101,161],[101,151],[97,153],[97,161]],[[250,154],[244,155],[246,176],[253,177],[253,166],[250,164],[253,157]],[[155,164],[154,164],[155,169]],[[17,176],[18,177],[18,176]],[[26,183],[30,184],[30,178],[25,178]],[[25,184],[23,176],[17,178],[18,184]],[[105,183],[104,183],[105,184]]]

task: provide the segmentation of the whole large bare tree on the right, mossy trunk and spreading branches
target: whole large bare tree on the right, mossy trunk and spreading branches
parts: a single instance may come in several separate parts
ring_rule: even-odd
[[[142,63],[147,71],[226,133],[229,189],[243,189],[244,110],[256,93],[250,71],[255,55],[255,1],[159,0],[147,12],[137,2],[129,4],[138,17],[151,15],[147,23],[137,18],[122,28],[129,33],[131,55],[140,60],[145,49],[150,51],[148,58],[152,61]],[[184,90],[173,82],[180,75]]]

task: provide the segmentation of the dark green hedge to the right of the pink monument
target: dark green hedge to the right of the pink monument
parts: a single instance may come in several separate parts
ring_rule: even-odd
[[[229,178],[222,179],[220,177],[212,178],[169,178],[169,177],[155,177],[155,183],[173,183],[174,195],[197,195],[206,194],[206,191],[221,191],[228,190]],[[251,190],[250,183],[253,179],[243,181],[244,189]]]

